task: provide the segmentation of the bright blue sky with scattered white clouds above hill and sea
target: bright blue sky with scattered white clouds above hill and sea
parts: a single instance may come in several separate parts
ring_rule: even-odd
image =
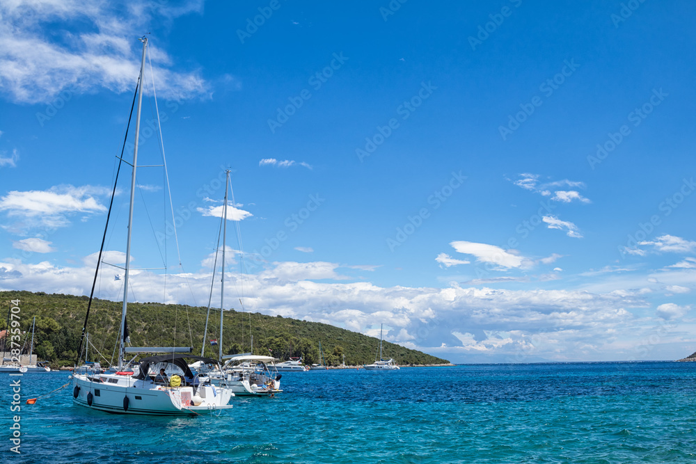
[[[696,351],[689,2],[17,0],[0,14],[0,289],[88,294],[149,32],[183,269],[171,213],[155,213],[161,170],[143,168],[133,263],[160,267],[166,236],[175,278],[137,271],[134,300],[207,303],[230,168],[243,247],[230,230],[226,307],[384,323],[454,362]],[[161,162],[154,104],[150,91],[141,163]],[[120,297],[115,273],[102,298]]]

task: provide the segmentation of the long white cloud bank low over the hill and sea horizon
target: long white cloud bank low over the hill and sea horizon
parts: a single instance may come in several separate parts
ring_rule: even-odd
[[[118,256],[122,257],[116,255],[109,261],[118,262]],[[85,259],[89,260],[94,261],[95,256]],[[313,281],[336,280],[338,267],[290,262],[274,263],[256,275],[226,273],[230,291],[226,291],[225,305],[239,307],[240,295],[235,289],[243,281],[244,305],[254,312],[331,323],[372,335],[379,333],[383,322],[390,328],[387,340],[455,361],[462,359],[461,353],[494,354],[511,362],[519,362],[520,353],[548,360],[599,360],[608,358],[608,353],[611,359],[622,359],[634,354],[635,341],[649,335],[656,325],[655,319],[631,314],[631,308],[649,307],[644,297],[631,292],[379,287],[370,282]],[[87,264],[70,267],[0,259],[0,290],[83,295],[90,290],[93,273],[93,266]],[[100,280],[98,297],[117,300],[122,280],[113,280],[113,274],[120,271],[104,266],[102,273],[105,278]],[[207,301],[210,280],[209,271],[182,275],[170,270],[166,277],[155,271],[134,271],[131,294],[138,301],[200,305]],[[187,291],[181,291],[184,287]],[[672,309],[661,307],[670,316]],[[633,343],[612,346],[617,334],[631,334]],[[665,333],[665,342],[669,337]],[[438,348],[442,344],[454,348]]]

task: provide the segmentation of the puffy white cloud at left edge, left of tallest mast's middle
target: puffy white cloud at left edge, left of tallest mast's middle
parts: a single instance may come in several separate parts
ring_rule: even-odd
[[[108,193],[109,189],[103,187],[72,185],[55,186],[46,191],[10,191],[0,198],[0,211],[5,211],[10,218],[24,220],[17,226],[19,228],[63,227],[70,224],[68,217],[73,214],[106,211],[95,195]]]

